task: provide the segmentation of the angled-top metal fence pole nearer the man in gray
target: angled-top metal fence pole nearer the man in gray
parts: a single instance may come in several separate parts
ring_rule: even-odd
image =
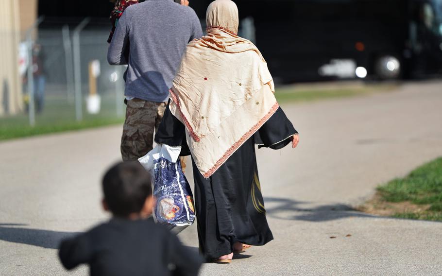
[[[83,120],[83,96],[81,83],[81,59],[80,59],[80,33],[90,22],[90,18],[86,17],[75,28],[72,35],[74,48],[74,87],[75,87],[75,117],[77,121]]]

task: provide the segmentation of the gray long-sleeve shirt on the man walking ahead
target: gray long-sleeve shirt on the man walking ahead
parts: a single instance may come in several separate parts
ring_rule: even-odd
[[[187,43],[201,36],[192,8],[173,0],[146,0],[128,7],[119,19],[107,60],[128,65],[125,96],[164,102]]]

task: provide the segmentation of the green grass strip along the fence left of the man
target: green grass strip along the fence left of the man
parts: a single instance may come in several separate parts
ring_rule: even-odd
[[[29,117],[26,113],[0,117],[0,140],[122,123],[124,117],[117,116],[115,105],[115,98],[103,97],[102,110],[99,114],[90,115],[84,109],[83,120],[76,121],[73,103],[68,103],[63,97],[48,97],[43,112],[35,116],[34,127],[29,125]]]

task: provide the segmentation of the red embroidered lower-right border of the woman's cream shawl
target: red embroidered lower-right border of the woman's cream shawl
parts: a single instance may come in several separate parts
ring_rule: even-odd
[[[234,154],[238,150],[238,148],[242,146],[242,144],[244,144],[250,137],[252,137],[252,135],[254,135],[255,132],[258,131],[266,121],[269,121],[269,119],[276,112],[276,110],[278,110],[278,108],[279,104],[274,104],[266,116],[259,120],[246,134],[244,134],[235,144],[233,144],[233,146],[230,147],[230,149],[228,149],[224,155],[222,155],[222,157],[210,170],[207,171],[207,173],[203,174],[204,178],[209,178],[210,176],[212,176],[212,174],[214,174],[222,166],[222,164],[227,161],[230,155]]]

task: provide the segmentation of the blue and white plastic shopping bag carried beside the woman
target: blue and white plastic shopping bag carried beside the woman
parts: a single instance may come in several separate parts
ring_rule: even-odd
[[[181,147],[157,145],[147,155],[138,159],[153,177],[153,210],[157,223],[166,224],[179,233],[195,221],[193,195],[181,168]]]

